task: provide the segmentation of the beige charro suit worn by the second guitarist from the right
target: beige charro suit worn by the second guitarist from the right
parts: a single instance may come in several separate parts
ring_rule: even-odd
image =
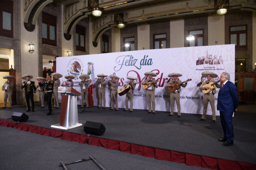
[[[171,87],[171,85],[169,83],[175,83],[175,80],[170,80],[167,82],[167,84],[165,85],[165,87]],[[181,80],[177,80],[178,83],[181,83]],[[186,87],[187,84],[181,84],[180,86],[182,87]],[[178,90],[176,89],[174,92],[170,93],[170,102],[171,102],[171,113],[170,115],[173,115],[173,110],[174,110],[174,100],[176,101],[176,105],[177,105],[177,110],[178,110],[178,115],[181,115],[180,113],[180,92],[181,92],[181,88],[179,88]]]

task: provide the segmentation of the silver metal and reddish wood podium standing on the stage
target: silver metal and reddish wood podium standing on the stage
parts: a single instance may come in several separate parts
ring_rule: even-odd
[[[78,123],[77,114],[77,96],[81,93],[72,87],[59,87],[58,93],[62,93],[61,109],[60,109],[60,123],[52,125],[52,128],[71,129],[82,126]]]

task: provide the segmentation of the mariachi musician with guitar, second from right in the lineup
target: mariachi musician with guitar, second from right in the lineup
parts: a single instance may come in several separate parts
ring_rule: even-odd
[[[168,77],[172,77],[173,80],[170,80],[167,82],[167,84],[165,85],[165,87],[175,87],[175,84],[177,84],[176,82],[182,83],[181,80],[178,80],[178,77],[181,77],[182,74],[180,73],[170,73],[168,74]],[[181,87],[186,87],[187,86],[188,81],[185,81],[185,84],[181,84]],[[181,113],[180,113],[180,92],[181,92],[181,88],[176,88],[173,92],[170,92],[170,103],[171,103],[171,113],[168,116],[173,116],[173,110],[174,110],[174,100],[176,101],[176,105],[177,105],[177,110],[178,110],[178,118],[181,117]]]

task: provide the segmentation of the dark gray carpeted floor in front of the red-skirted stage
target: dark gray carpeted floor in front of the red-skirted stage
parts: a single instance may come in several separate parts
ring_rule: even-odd
[[[74,162],[89,158],[89,155],[92,155],[107,170],[206,169],[3,126],[0,126],[0,135],[0,170],[64,170],[63,167],[59,167],[61,161]],[[68,170],[100,170],[92,160],[67,165],[67,168]]]

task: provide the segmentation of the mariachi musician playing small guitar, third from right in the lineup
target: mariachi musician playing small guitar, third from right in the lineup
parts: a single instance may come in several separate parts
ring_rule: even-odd
[[[146,88],[146,99],[147,99],[147,104],[148,104],[148,114],[151,113],[151,102],[152,102],[152,110],[153,114],[156,114],[155,111],[155,89],[158,88],[157,81],[155,79],[152,79],[153,77],[156,77],[156,73],[148,71],[144,73],[145,76],[148,76],[148,79],[145,81],[141,82],[143,85],[149,86]],[[151,100],[151,102],[150,102]]]

